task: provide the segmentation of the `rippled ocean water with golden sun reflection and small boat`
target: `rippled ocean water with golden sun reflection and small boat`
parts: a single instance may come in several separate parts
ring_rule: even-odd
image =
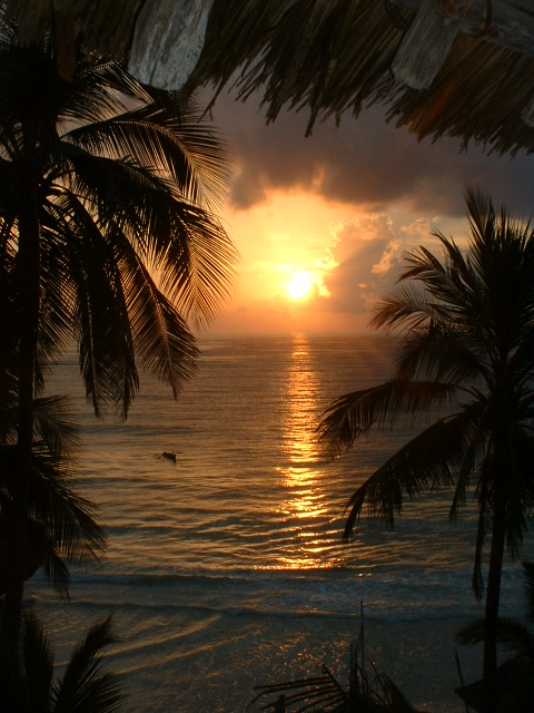
[[[473,510],[451,525],[449,496],[422,497],[393,530],[363,518],[345,545],[349,496],[407,433],[374,432],[335,460],[316,443],[336,395],[388,377],[392,342],[294,334],[200,346],[179,400],[144,375],[126,422],[95,419],[73,352],[53,374],[50,391],[72,395],[81,428],[80,492],[100,505],[108,535],[105,564],[73,574],[70,602],[42,577],[27,587],[57,661],[112,613],[120,641],[106,665],[121,674],[125,711],[259,711],[261,701],[247,707],[256,685],[323,664],[346,682],[363,607],[366,658],[422,710],[463,711],[453,635],[483,614],[471,590]],[[521,616],[522,584],[507,563],[503,613]],[[458,653],[466,681],[478,677],[481,652]]]

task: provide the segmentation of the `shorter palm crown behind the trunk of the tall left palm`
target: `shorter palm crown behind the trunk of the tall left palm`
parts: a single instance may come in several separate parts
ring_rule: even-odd
[[[1,400],[1,403],[6,403]],[[0,595],[8,589],[12,548],[13,478],[17,472],[17,446],[7,443],[1,417],[0,441]],[[11,414],[12,416],[12,414]],[[56,589],[68,596],[69,567],[98,564],[106,546],[97,519],[97,506],[75,490],[77,430],[66,399],[47,397],[34,404],[36,437],[29,484],[24,580],[42,569]],[[13,423],[11,423],[13,427]]]

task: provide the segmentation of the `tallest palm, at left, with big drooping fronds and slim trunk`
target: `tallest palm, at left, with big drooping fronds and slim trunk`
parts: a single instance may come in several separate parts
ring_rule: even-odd
[[[137,359],[175,397],[229,294],[235,250],[211,209],[225,150],[194,106],[147,91],[120,61],[80,57],[62,79],[49,39],[21,47],[0,18],[0,300],[17,356],[11,577],[16,646],[34,437],[48,364],[75,338],[95,412],[123,417]]]

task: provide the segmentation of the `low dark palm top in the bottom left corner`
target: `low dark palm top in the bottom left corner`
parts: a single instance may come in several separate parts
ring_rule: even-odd
[[[53,681],[53,654],[39,619],[24,616],[18,661],[0,641],[0,694],[12,713],[113,713],[122,693],[116,674],[102,671],[101,649],[115,641],[111,618],[92,626],[73,651],[60,681]]]

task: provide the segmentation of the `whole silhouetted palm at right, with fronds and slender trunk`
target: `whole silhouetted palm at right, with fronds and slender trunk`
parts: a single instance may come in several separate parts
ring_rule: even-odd
[[[503,557],[505,549],[520,551],[534,504],[534,231],[504,208],[497,215],[478,192],[468,189],[465,197],[467,252],[436,233],[444,262],[423,246],[412,252],[399,284],[373,318],[374,326],[403,334],[394,378],[338,398],[319,434],[339,452],[374,426],[423,419],[423,430],[350,498],[346,537],[365,502],[393,526],[405,496],[449,488],[454,519],[474,488],[478,598],[491,534],[483,678],[492,711]]]

